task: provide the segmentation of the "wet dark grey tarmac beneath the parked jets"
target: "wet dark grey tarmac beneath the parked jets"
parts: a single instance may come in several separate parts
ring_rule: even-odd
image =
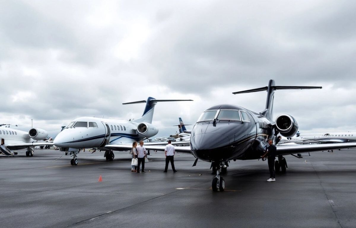
[[[21,152],[22,151],[22,152]],[[267,161],[231,161],[225,191],[211,191],[210,164],[175,156],[163,173],[151,152],[145,173],[128,152],[0,155],[0,227],[356,227],[356,150],[285,156],[287,172],[267,182]],[[55,161],[56,160],[56,161]],[[99,182],[99,177],[102,182]]]

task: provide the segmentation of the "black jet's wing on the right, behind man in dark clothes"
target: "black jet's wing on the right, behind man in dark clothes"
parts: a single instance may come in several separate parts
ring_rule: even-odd
[[[277,146],[277,155],[297,154],[323,150],[337,150],[356,147],[356,142],[332,143],[332,144],[308,144],[308,145],[281,145]]]

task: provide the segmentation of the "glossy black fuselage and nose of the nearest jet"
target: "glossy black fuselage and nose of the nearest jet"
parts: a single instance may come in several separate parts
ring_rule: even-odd
[[[208,162],[258,159],[273,134],[265,116],[235,105],[216,105],[207,110],[233,109],[248,114],[248,121],[209,120],[194,125],[190,135],[193,155]]]

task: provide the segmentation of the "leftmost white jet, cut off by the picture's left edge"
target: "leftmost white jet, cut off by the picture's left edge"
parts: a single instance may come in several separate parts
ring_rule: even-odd
[[[25,149],[26,156],[33,156],[33,146],[50,146],[53,142],[37,142],[37,140],[45,140],[48,136],[47,131],[41,128],[32,128],[28,132],[14,128],[4,128],[0,126],[0,139],[4,140],[4,144],[0,145],[0,154],[11,157],[17,155],[11,150]]]

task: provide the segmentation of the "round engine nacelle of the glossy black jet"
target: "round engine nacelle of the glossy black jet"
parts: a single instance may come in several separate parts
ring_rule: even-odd
[[[276,118],[276,129],[284,137],[292,137],[298,131],[297,120],[287,114],[279,115]]]

